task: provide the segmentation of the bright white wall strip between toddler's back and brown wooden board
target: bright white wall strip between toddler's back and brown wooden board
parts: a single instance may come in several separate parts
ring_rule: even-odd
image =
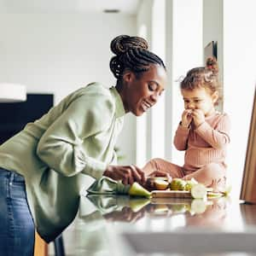
[[[254,0],[224,1],[224,111],[231,119],[228,177],[232,198],[240,195],[256,83],[255,9]]]

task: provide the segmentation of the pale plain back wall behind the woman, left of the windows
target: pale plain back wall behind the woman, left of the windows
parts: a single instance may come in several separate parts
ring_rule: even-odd
[[[114,85],[109,44],[136,34],[133,15],[0,15],[0,81],[28,92],[54,93],[55,103],[84,84]],[[126,116],[119,137],[123,162],[135,162],[135,120]],[[124,136],[125,135],[125,136]]]

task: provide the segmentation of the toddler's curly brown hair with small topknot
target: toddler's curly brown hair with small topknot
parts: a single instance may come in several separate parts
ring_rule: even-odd
[[[180,83],[181,90],[194,90],[195,88],[205,88],[211,94],[215,91],[220,92],[218,62],[215,57],[207,58],[206,67],[190,69],[186,77]],[[216,105],[218,105],[218,101]]]

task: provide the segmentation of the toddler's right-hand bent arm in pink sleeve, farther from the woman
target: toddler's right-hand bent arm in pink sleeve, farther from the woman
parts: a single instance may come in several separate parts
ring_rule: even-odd
[[[216,128],[212,128],[207,122],[199,125],[195,132],[202,137],[212,148],[224,148],[225,145],[230,143],[230,118],[224,114],[218,121]]]

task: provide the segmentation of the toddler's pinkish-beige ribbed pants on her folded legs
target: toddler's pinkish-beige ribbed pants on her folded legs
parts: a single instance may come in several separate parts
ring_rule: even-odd
[[[151,172],[160,171],[170,174],[172,178],[180,177],[189,180],[192,177],[199,183],[205,184],[213,191],[224,191],[226,183],[226,168],[219,163],[207,164],[196,171],[183,170],[182,166],[177,166],[169,161],[154,158],[149,160],[143,167],[143,172],[149,175]]]

